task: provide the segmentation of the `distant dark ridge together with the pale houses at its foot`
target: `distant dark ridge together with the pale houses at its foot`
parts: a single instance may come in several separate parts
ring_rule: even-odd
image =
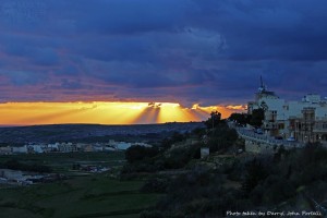
[[[133,145],[150,147],[148,141],[160,140],[160,135],[166,136],[172,132],[185,133],[203,126],[204,124],[201,122],[189,122],[144,125],[63,124],[1,128],[0,155],[110,152],[124,150]],[[125,138],[125,141],[132,138],[133,142],[116,141],[114,136]]]

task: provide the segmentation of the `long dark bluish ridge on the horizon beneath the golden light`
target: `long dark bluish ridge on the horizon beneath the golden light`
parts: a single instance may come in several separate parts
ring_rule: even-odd
[[[137,125],[99,125],[99,124],[53,124],[0,128],[0,143],[53,143],[64,141],[108,142],[112,136],[146,138],[160,137],[170,132],[187,132],[202,128],[201,122],[137,124]],[[108,137],[109,136],[109,137]]]

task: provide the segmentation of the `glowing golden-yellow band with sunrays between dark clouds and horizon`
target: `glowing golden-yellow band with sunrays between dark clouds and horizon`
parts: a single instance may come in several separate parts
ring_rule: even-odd
[[[214,110],[225,118],[231,112],[223,106],[185,108],[177,102],[5,102],[0,104],[0,125],[190,122],[204,121]]]

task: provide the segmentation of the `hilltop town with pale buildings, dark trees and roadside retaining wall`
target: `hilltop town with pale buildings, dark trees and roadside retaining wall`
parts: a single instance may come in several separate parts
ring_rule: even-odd
[[[287,101],[261,82],[247,112],[229,118],[229,125],[244,138],[246,152],[276,153],[281,146],[303,148],[308,143],[327,146],[325,98],[307,94],[301,100]]]

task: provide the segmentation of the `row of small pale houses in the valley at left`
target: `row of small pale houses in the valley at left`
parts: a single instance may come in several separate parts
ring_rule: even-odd
[[[74,153],[74,152],[112,152],[124,150],[131,146],[140,145],[152,147],[146,143],[126,143],[110,140],[108,143],[53,143],[53,144],[35,144],[28,143],[23,146],[0,147],[0,155],[11,154],[43,154],[43,153]]]

